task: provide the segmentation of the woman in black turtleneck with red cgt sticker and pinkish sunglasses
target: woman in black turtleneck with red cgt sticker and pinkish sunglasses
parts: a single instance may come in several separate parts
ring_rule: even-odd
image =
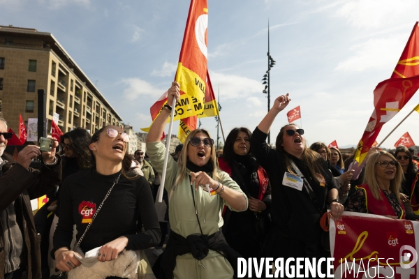
[[[71,271],[68,275],[73,273],[72,278],[89,278],[91,272],[104,278],[124,278],[126,272],[134,272],[133,266],[136,273],[137,251],[151,248],[160,241],[159,220],[149,183],[143,176],[125,172],[122,167],[129,140],[117,126],[101,128],[89,144],[94,166],[68,176],[64,181],[53,253],[57,269]],[[144,232],[139,230],[139,217]],[[78,267],[80,261],[75,257],[76,252],[70,250],[73,225],[76,225],[79,241],[89,223],[91,227],[84,235],[80,249],[85,253],[101,247],[97,255],[102,263],[92,266],[94,271]],[[119,255],[125,250],[128,252]],[[131,262],[128,267],[110,262],[127,257]]]

